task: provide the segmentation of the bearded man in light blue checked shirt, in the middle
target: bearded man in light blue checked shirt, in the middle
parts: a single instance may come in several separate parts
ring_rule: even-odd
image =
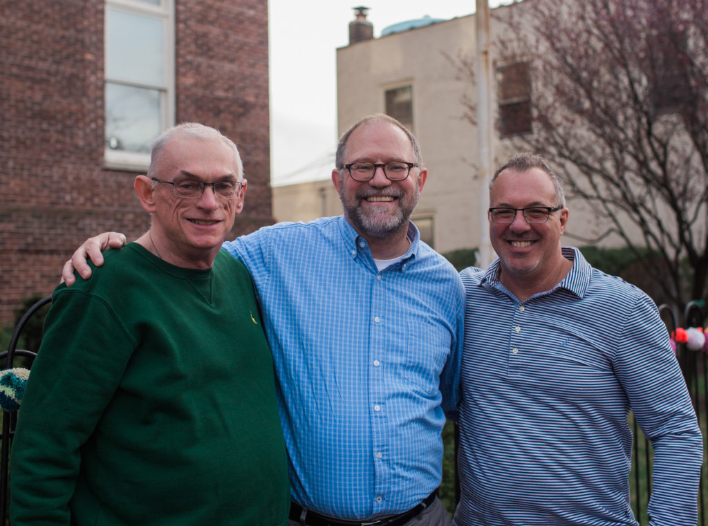
[[[435,490],[443,410],[457,402],[464,290],[410,221],[427,177],[411,132],[372,115],[338,144],[332,182],[343,216],[224,244],[263,308],[292,526],[450,525]],[[84,275],[87,253],[100,265],[101,247],[124,240],[92,238],[72,261]],[[67,263],[67,284],[72,271]]]

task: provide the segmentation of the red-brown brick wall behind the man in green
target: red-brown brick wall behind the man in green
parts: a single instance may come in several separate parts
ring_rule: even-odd
[[[0,326],[81,241],[149,226],[103,164],[102,0],[0,0]],[[249,180],[232,236],[273,222],[265,0],[176,0],[176,120],[219,128]]]

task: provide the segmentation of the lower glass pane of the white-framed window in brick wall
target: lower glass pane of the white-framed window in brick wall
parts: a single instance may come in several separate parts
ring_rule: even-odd
[[[105,116],[108,149],[149,153],[160,132],[160,91],[107,82]]]

